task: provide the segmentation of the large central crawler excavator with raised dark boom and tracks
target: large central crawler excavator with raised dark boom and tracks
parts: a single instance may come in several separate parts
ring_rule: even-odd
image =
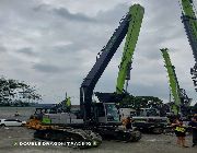
[[[80,87],[80,115],[71,113],[44,114],[40,127],[34,133],[35,139],[49,141],[90,141],[91,146],[100,145],[102,139],[127,142],[139,141],[141,139],[141,133],[138,130],[119,128],[121,122],[116,107],[118,97],[115,101],[100,101],[97,103],[92,99],[92,96],[99,79],[102,76],[126,35],[125,56],[123,58],[132,55],[139,36],[143,13],[144,9],[140,4],[131,5],[107,45],[99,54],[95,64]],[[130,66],[124,63],[120,64],[123,70],[120,69],[121,71],[119,71],[121,75],[118,80],[125,80],[125,69],[130,68]],[[119,86],[121,86],[120,84],[123,85],[123,83],[118,83]],[[119,86],[117,91],[121,91]]]

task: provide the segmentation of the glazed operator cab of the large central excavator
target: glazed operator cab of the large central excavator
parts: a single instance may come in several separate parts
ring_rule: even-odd
[[[114,103],[99,103],[96,105],[96,116],[99,123],[117,123],[119,114]]]

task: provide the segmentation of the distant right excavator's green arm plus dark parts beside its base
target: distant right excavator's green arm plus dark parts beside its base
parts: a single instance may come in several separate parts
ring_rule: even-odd
[[[185,90],[179,87],[177,76],[175,73],[175,67],[172,64],[167,52],[169,49],[163,48],[160,50],[162,51],[162,56],[165,62],[165,68],[167,70],[169,80],[170,80],[170,87],[174,98],[174,103],[172,104],[172,111],[174,113],[174,115],[178,115],[178,113],[181,113],[182,115],[187,114],[185,109],[187,106],[190,105],[192,99],[188,98]]]

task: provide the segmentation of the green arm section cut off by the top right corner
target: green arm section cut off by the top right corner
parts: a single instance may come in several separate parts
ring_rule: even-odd
[[[190,28],[195,39],[197,39],[197,20],[192,4],[192,0],[182,0],[184,15],[188,16]]]

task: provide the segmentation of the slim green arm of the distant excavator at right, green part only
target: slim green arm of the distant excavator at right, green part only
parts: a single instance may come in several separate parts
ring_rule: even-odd
[[[171,92],[174,98],[174,105],[173,105],[173,111],[175,115],[178,115],[179,111],[179,105],[181,105],[181,98],[179,98],[179,85],[176,79],[176,73],[174,70],[174,66],[172,66],[167,48],[160,49],[162,51],[162,56],[165,62],[165,68],[169,73],[169,80],[170,80],[170,86],[171,86]]]

